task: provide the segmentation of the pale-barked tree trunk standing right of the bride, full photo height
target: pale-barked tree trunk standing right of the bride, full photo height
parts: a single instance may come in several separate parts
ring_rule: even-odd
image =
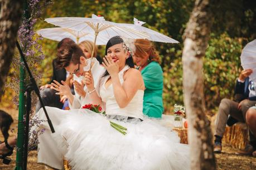
[[[191,169],[216,169],[210,121],[205,115],[202,57],[210,37],[215,0],[196,0],[183,34],[183,92],[189,121]]]

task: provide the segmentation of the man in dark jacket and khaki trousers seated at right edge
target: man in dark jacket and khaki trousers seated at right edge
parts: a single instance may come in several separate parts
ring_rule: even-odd
[[[235,86],[235,98],[236,101],[224,98],[221,100],[218,110],[218,115],[215,121],[215,141],[214,141],[214,152],[221,153],[221,139],[223,138],[226,122],[228,116],[232,116],[239,122],[245,122],[245,115],[247,110],[255,106],[256,98],[252,96],[252,91],[249,90],[249,75],[252,74],[252,69],[246,69],[241,71]],[[244,151],[237,152],[237,154],[252,154],[254,151],[255,142],[250,134],[250,143],[245,147]]]

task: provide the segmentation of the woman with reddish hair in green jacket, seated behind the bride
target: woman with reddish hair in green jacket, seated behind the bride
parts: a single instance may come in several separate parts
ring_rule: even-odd
[[[160,57],[148,39],[136,39],[136,51],[133,61],[141,71],[145,84],[143,114],[161,118],[163,113],[163,71],[159,64]]]

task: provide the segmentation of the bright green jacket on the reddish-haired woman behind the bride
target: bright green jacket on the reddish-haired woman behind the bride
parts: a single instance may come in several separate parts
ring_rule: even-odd
[[[157,62],[151,62],[141,71],[145,84],[143,114],[161,118],[163,113],[163,71]]]

